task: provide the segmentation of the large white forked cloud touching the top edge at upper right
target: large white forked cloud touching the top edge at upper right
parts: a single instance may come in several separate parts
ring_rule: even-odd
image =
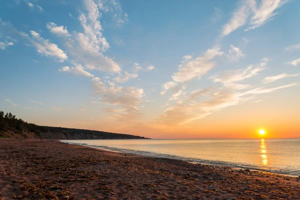
[[[274,12],[288,0],[261,0],[256,3],[255,0],[241,1],[237,9],[232,13],[232,17],[223,26],[221,36],[226,36],[235,29],[243,26],[249,20],[248,27],[244,31],[255,29],[278,13]]]

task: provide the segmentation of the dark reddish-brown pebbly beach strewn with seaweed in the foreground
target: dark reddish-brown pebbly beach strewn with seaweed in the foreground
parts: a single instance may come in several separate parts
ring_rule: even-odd
[[[0,199],[300,199],[300,179],[58,140],[0,139]]]

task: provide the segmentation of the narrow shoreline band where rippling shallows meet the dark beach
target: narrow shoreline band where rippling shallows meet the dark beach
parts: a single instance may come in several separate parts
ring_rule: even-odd
[[[298,177],[300,175],[300,171],[299,171],[299,174],[296,175],[296,174],[288,174],[288,173],[284,173],[284,172],[280,172],[280,171],[276,171],[276,170],[268,170],[268,169],[250,167],[250,166],[239,166],[234,162],[225,162],[225,161],[223,161],[223,163],[217,163],[217,162],[214,162],[212,160],[210,161],[210,160],[201,160],[201,159],[198,159],[199,161],[191,161],[191,159],[195,159],[195,158],[182,157],[182,156],[171,155],[171,154],[169,154],[169,155],[168,154],[157,154],[157,153],[151,154],[151,152],[149,152],[149,151],[137,151],[137,150],[131,150],[131,149],[125,149],[125,148],[115,148],[115,147],[108,147],[108,146],[106,146],[107,148],[101,148],[101,147],[96,147],[96,146],[93,146],[93,145],[88,145],[86,143],[75,143],[75,142],[69,142],[69,141],[63,141],[63,140],[59,140],[59,141],[64,142],[64,143],[68,143],[68,144],[80,145],[80,146],[85,146],[85,147],[90,147],[90,148],[95,148],[95,149],[100,149],[100,150],[105,150],[105,151],[111,151],[111,152],[116,152],[116,153],[127,153],[127,154],[154,157],[154,158],[155,157],[156,158],[168,158],[168,159],[175,159],[175,160],[185,161],[185,162],[193,163],[193,164],[216,165],[216,166],[231,167],[231,168],[234,168],[234,169],[250,169],[250,170],[253,170],[253,171],[263,171],[263,172],[269,172],[269,173],[285,175],[285,176],[289,176],[289,177]],[[110,148],[113,148],[115,150],[110,149]]]

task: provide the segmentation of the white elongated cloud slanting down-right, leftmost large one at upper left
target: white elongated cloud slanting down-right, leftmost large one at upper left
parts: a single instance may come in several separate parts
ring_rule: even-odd
[[[23,34],[31,41],[31,44],[36,48],[40,54],[57,58],[58,61],[63,62],[67,59],[67,55],[57,47],[56,44],[51,43],[49,40],[40,37],[40,35],[34,30],[30,30],[33,39],[29,38],[27,34]]]

